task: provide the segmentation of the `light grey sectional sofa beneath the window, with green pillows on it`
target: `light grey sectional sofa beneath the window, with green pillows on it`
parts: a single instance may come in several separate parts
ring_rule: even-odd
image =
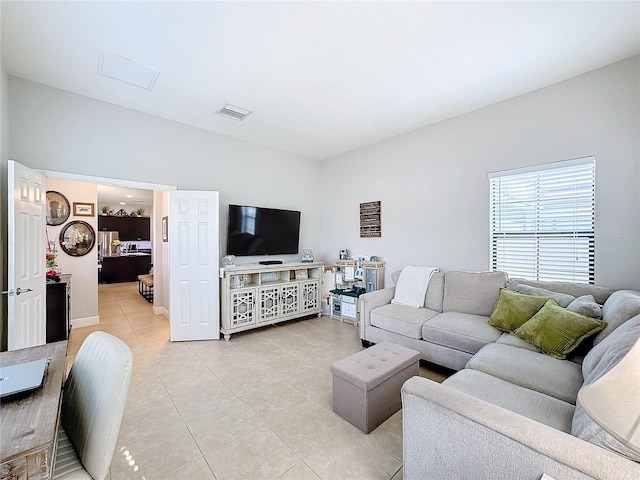
[[[500,288],[518,285],[592,295],[608,325],[567,359],[541,353],[489,324]],[[640,342],[640,292],[438,272],[422,308],[393,296],[360,297],[363,343],[391,341],[458,370],[442,384],[414,377],[403,386],[405,479],[640,478],[640,455],[599,429],[577,398]]]

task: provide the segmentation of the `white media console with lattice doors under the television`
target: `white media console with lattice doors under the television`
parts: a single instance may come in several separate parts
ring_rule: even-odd
[[[239,265],[220,269],[224,339],[232,333],[322,314],[322,263]]]

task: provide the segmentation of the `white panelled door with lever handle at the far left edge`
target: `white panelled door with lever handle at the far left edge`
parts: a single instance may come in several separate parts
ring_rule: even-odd
[[[43,345],[47,339],[45,181],[43,174],[9,160],[9,350]]]

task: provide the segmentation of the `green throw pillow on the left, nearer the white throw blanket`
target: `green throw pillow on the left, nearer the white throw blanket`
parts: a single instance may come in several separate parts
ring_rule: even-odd
[[[533,317],[547,300],[549,297],[525,295],[501,288],[496,308],[489,317],[489,325],[504,332],[513,332]]]

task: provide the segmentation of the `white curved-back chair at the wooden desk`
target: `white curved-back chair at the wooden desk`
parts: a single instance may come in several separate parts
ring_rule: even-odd
[[[131,349],[113,335],[93,332],[82,343],[62,394],[53,478],[108,477],[132,367]]]

